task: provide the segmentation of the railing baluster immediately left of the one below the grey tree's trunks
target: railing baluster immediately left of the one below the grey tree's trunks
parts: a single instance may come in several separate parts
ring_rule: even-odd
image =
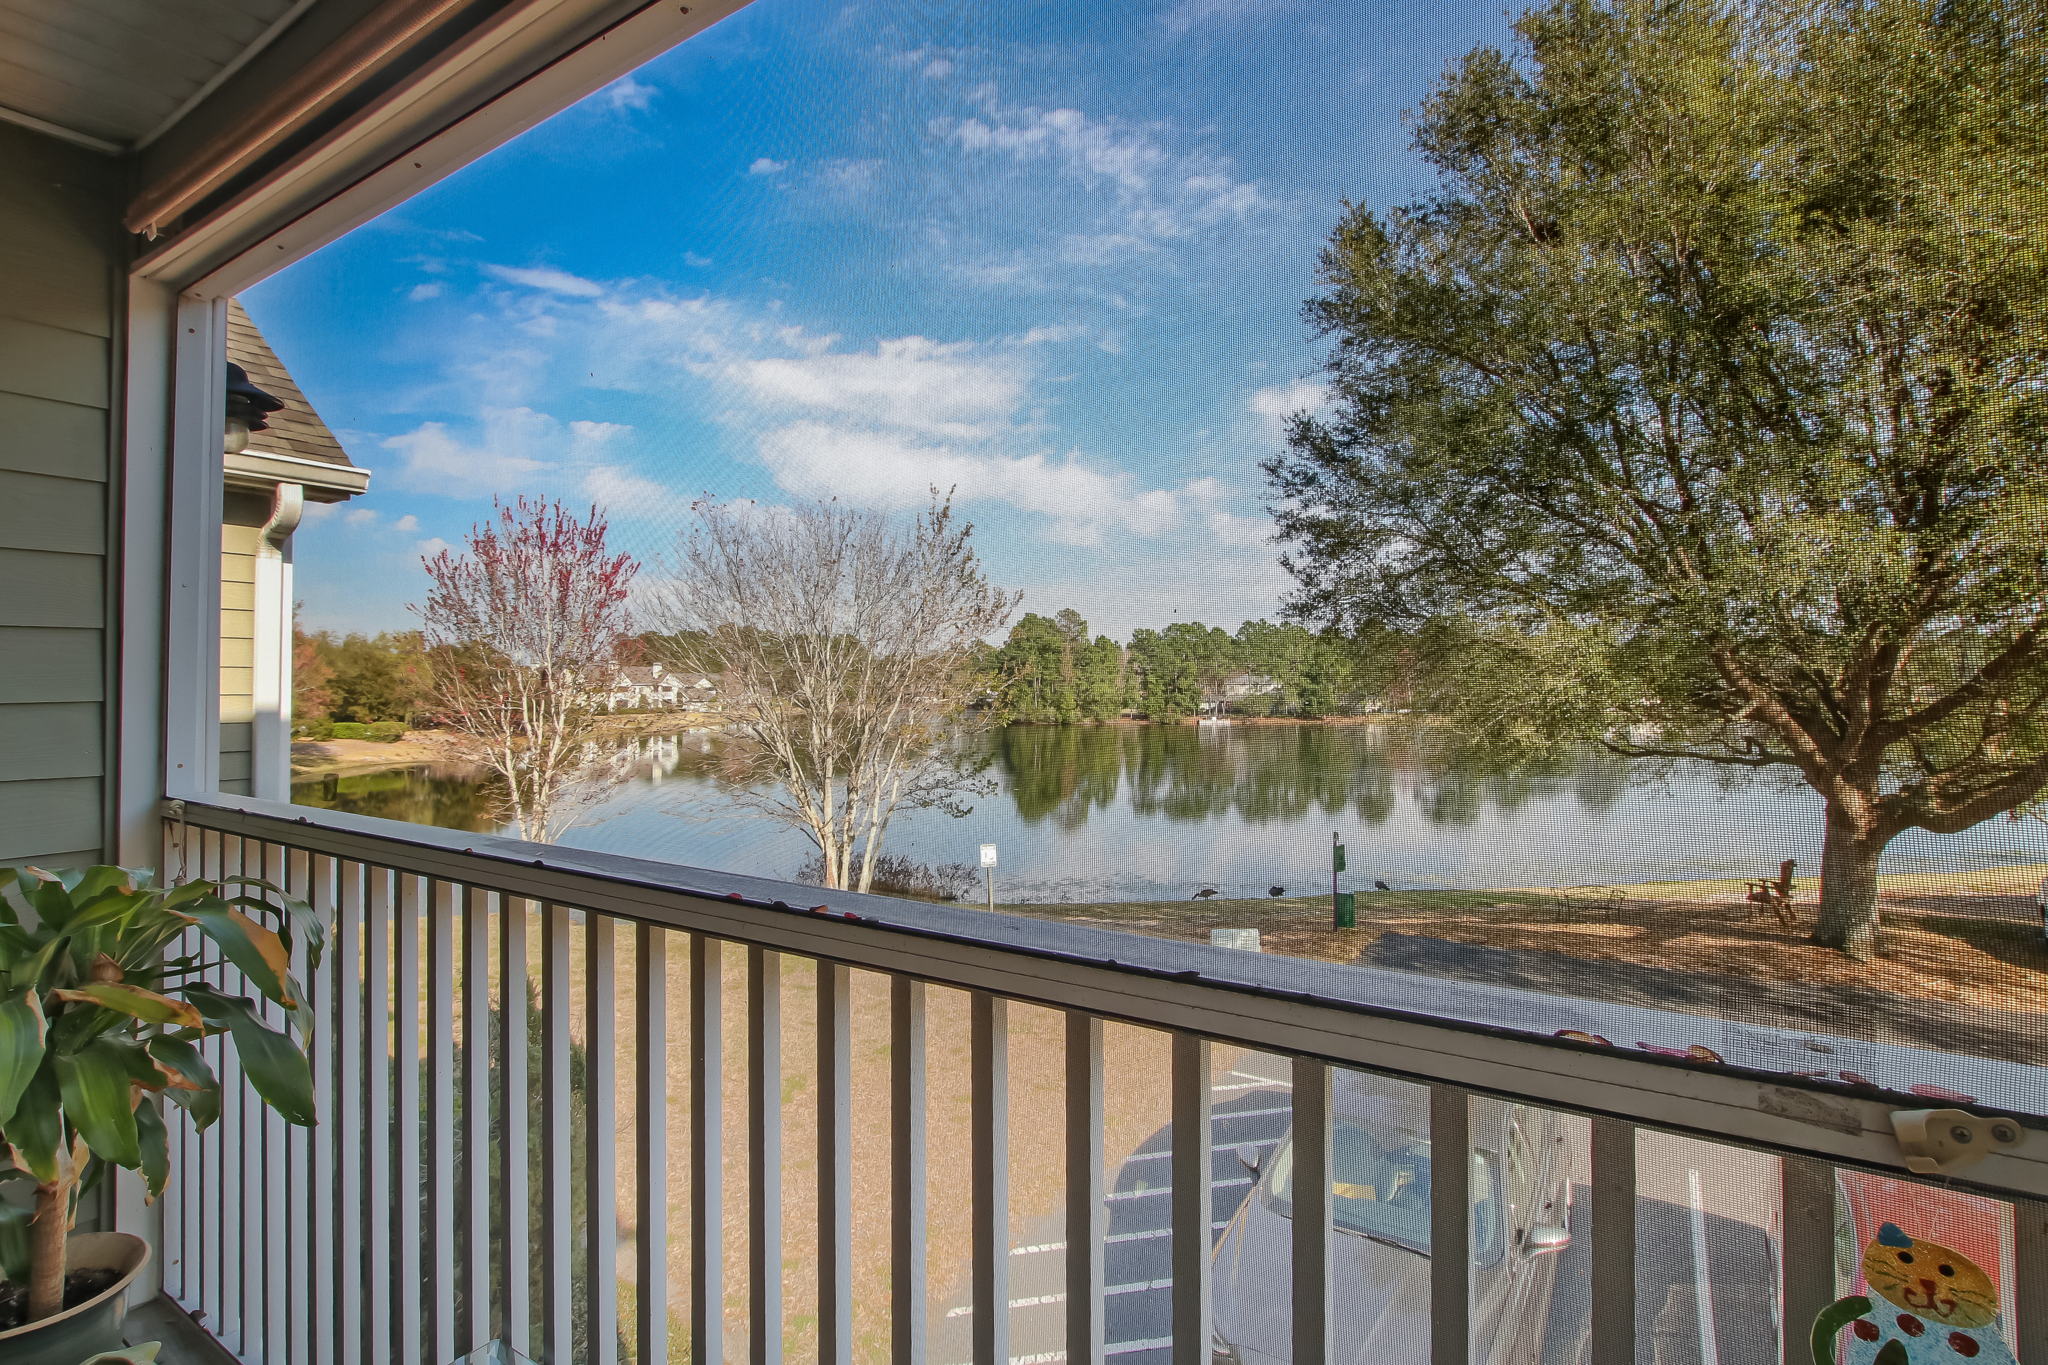
[[[748,948],[748,1359],[782,1359],[782,956]]]

